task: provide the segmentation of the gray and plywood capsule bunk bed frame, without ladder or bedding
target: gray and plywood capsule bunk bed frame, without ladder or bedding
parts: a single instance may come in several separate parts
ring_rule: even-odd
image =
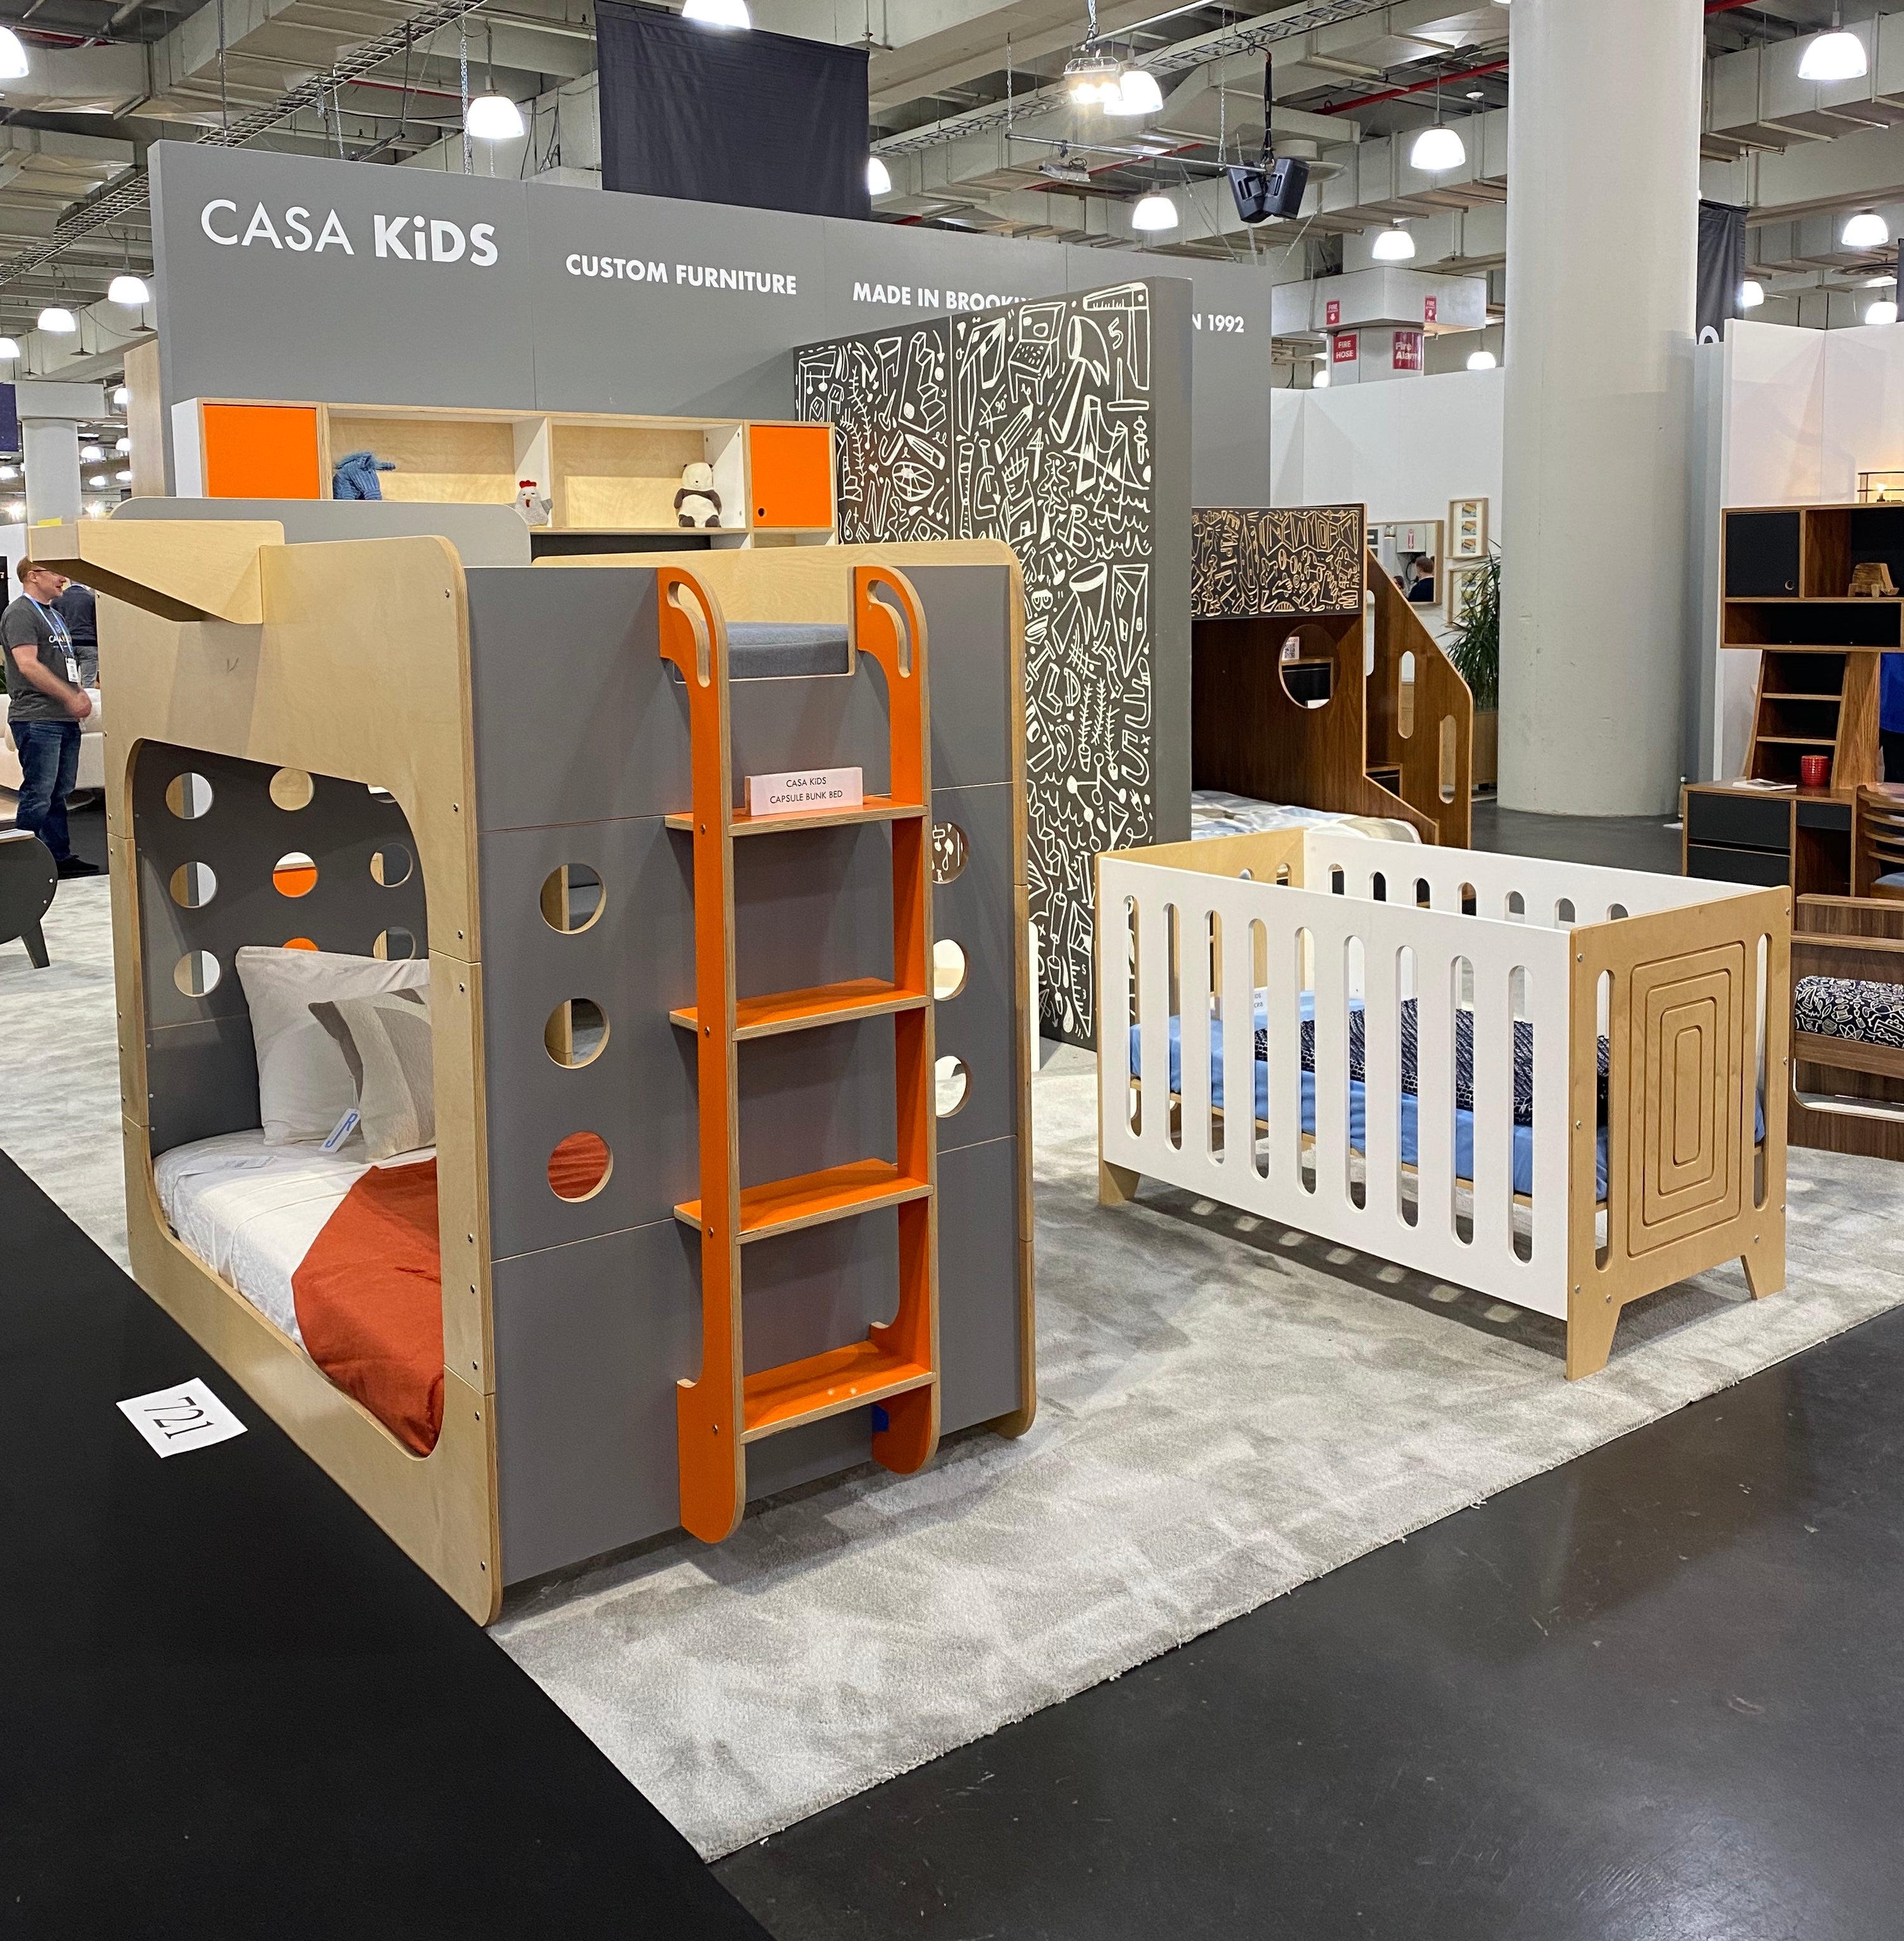
[[[287,545],[274,522],[113,520],[37,528],[31,551],[107,596],[134,1273],[481,1623],[505,1582],[675,1526],[687,1419],[683,1405],[677,1423],[675,1398],[712,1368],[699,1236],[677,1219],[699,1190],[695,1052],[670,1015],[697,1002],[701,840],[666,827],[672,811],[703,813],[712,800],[689,774],[691,751],[699,759],[712,743],[689,734],[687,683],[662,656],[672,641],[677,658],[693,666],[699,652],[706,670],[712,646],[724,674],[724,615],[838,625],[856,575],[873,569],[881,625],[893,641],[912,635],[922,677],[930,631],[930,807],[910,827],[932,829],[934,870],[930,908],[908,906],[910,920],[924,924],[928,953],[934,936],[961,941],[967,980],[908,1040],[904,1017],[918,1003],[899,986],[916,984],[920,967],[895,905],[893,815],[724,840],[730,901],[712,932],[701,926],[701,949],[712,936],[728,953],[720,1052],[739,1077],[722,1135],[749,1155],[730,1168],[730,1215],[761,1178],[889,1149],[895,1062],[903,1099],[904,1046],[916,1062],[922,1044],[930,1062],[936,1019],[939,1048],[967,1064],[970,1102],[926,1128],[943,1234],[934,1429],[1031,1425],[1023,586],[1007,547],[736,551],[695,555],[691,573],[625,555],[565,561],[559,573],[466,573],[435,538]],[[858,623],[870,623],[866,611]],[[728,786],[743,773],[842,759],[864,761],[868,790],[887,786],[887,689],[870,674],[805,679],[794,705],[784,681],[720,687],[732,707],[720,749],[734,763]],[[924,697],[920,710],[924,720]],[[196,823],[167,813],[165,788],[188,769],[212,778],[213,800],[227,792],[225,811]],[[268,784],[283,769],[314,776],[311,807],[276,806]],[[404,891],[378,887],[365,868],[390,840],[419,864]],[[274,850],[291,842],[320,879],[295,910],[270,875]],[[941,846],[957,868],[937,868]],[[202,910],[165,891],[192,856],[221,879]],[[600,872],[602,920],[563,936],[538,895],[574,862]],[[361,953],[392,916],[427,938],[431,961],[446,1368],[443,1432],[427,1458],[173,1236],[151,1167],[157,1151],[256,1124],[229,951],[301,930],[322,949]],[[194,949],[225,965],[202,998],[173,982],[175,959]],[[897,951],[891,1003],[823,1031],[767,1035],[736,1060],[736,990],[829,986],[864,974],[868,957],[883,969],[881,951]],[[703,976],[703,1000],[712,990],[720,1002],[720,970],[712,986]],[[543,1029],[551,1003],[580,994],[602,1000],[611,1033],[586,1069],[565,1071],[543,1050]],[[778,1128],[784,1101],[821,1085],[823,1122]],[[559,1201],[545,1155],[584,1126],[609,1139],[617,1165],[592,1200]],[[918,1135],[914,1124],[914,1145]],[[774,1283],[749,1308],[763,1333],[749,1374],[819,1357],[893,1316],[897,1223],[887,1198],[862,1217],[798,1221],[790,1238],[749,1250],[749,1279],[771,1262]],[[732,1312],[738,1320],[738,1299]],[[734,1349],[738,1403],[738,1339]],[[734,1489],[759,1497],[877,1456],[875,1415],[846,1396],[807,1407],[771,1442],[749,1434]],[[916,1458],[922,1438],[910,1442]],[[699,1522],[720,1535],[732,1518],[724,1524],[716,1504]]]

